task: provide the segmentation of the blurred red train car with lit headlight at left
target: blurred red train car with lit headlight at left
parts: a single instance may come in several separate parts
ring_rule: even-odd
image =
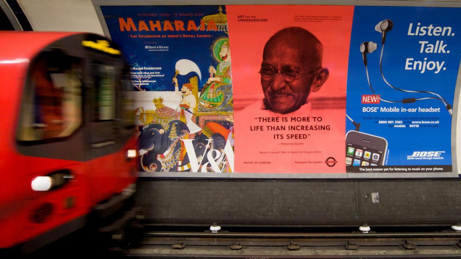
[[[118,46],[87,33],[0,32],[0,50],[0,248],[24,253],[92,216],[126,218],[136,141]]]

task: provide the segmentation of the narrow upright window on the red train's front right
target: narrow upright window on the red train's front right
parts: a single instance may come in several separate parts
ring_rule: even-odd
[[[95,121],[111,120],[116,118],[115,99],[115,67],[110,65],[97,66],[97,81],[95,94],[94,118]]]

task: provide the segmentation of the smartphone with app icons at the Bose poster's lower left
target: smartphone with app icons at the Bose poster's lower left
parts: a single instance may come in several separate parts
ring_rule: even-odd
[[[355,166],[384,165],[387,140],[375,135],[350,130],[346,133],[346,171]]]

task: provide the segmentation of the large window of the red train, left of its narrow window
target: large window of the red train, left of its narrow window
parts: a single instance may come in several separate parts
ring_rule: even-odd
[[[41,53],[30,65],[18,141],[67,137],[82,124],[82,63],[64,53]]]

